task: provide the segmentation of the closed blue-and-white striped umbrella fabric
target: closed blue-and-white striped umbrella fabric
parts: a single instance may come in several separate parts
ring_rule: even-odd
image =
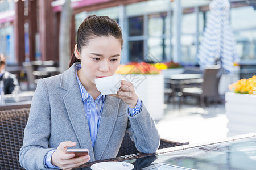
[[[233,62],[238,62],[236,41],[230,27],[230,3],[228,0],[213,0],[210,15],[203,33],[203,41],[199,47],[197,58],[201,68],[220,62],[222,69],[232,73]]]

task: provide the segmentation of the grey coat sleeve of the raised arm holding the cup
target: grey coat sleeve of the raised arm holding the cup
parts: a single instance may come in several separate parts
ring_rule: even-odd
[[[142,102],[141,112],[130,116],[127,132],[134,141],[138,151],[143,153],[154,153],[160,145],[160,135],[156,129],[155,121],[150,117]]]

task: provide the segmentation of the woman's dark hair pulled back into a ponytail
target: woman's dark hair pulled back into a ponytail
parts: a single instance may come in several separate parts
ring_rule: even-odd
[[[121,46],[123,46],[122,31],[118,23],[108,16],[92,15],[85,18],[84,22],[81,23],[77,30],[76,43],[79,53],[81,52],[82,47],[88,45],[89,40],[96,36],[113,36],[116,39],[119,39]],[[80,62],[80,59],[77,59],[73,52],[69,62],[69,67],[71,67],[75,62]]]

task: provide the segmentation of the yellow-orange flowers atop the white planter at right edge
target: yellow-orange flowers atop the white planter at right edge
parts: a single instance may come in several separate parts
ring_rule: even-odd
[[[249,79],[241,79],[230,84],[229,89],[241,94],[256,94],[256,75]]]

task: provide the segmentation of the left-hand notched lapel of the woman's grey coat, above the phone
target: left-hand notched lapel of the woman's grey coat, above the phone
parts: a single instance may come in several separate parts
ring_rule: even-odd
[[[63,73],[60,87],[67,90],[63,100],[68,112],[69,120],[73,126],[81,148],[88,148],[91,160],[94,161],[92,141],[90,139],[90,130],[84,111],[84,105],[80,95],[79,86],[76,83],[75,65]],[[73,83],[75,82],[75,83]]]

